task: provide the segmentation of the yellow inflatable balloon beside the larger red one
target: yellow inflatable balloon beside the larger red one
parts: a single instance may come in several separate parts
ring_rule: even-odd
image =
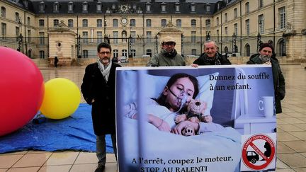
[[[45,96],[40,112],[50,119],[69,117],[79,107],[81,93],[69,79],[56,78],[45,83]]]

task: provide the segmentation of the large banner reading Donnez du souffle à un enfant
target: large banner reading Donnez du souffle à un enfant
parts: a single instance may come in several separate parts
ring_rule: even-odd
[[[276,168],[271,66],[121,67],[119,171]]]

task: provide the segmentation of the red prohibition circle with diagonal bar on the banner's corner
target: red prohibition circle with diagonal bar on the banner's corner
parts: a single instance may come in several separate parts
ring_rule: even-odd
[[[270,144],[270,147],[271,147],[270,157],[264,156],[261,150],[258,149],[258,147],[256,147],[256,145],[254,144],[254,141],[258,139],[262,139],[263,141],[266,141],[268,142],[268,144]],[[246,157],[246,150],[248,147],[252,147],[254,151],[256,151],[256,153],[259,154],[259,156],[261,156],[264,159],[263,161],[266,161],[266,162],[259,166],[256,166],[255,164],[251,164],[251,162]],[[246,142],[244,142],[243,147],[242,147],[242,160],[243,160],[244,165],[246,165],[247,167],[253,170],[263,170],[269,164],[271,164],[271,161],[273,161],[274,159],[275,153],[276,153],[276,147],[274,145],[273,139],[268,137],[266,134],[256,134],[256,135],[249,137],[249,139],[247,139]]]

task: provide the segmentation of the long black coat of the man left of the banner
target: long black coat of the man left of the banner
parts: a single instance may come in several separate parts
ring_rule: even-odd
[[[121,67],[112,63],[108,82],[103,78],[98,63],[89,64],[85,69],[81,92],[85,101],[92,105],[91,117],[94,133],[115,134],[115,68]],[[91,103],[92,100],[94,103]]]

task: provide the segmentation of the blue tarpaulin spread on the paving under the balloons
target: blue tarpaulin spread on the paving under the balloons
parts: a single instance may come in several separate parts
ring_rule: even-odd
[[[96,151],[91,106],[81,103],[74,114],[62,120],[46,119],[38,124],[31,120],[16,132],[0,137],[0,154],[26,150]],[[113,153],[110,135],[106,135],[106,151]]]

